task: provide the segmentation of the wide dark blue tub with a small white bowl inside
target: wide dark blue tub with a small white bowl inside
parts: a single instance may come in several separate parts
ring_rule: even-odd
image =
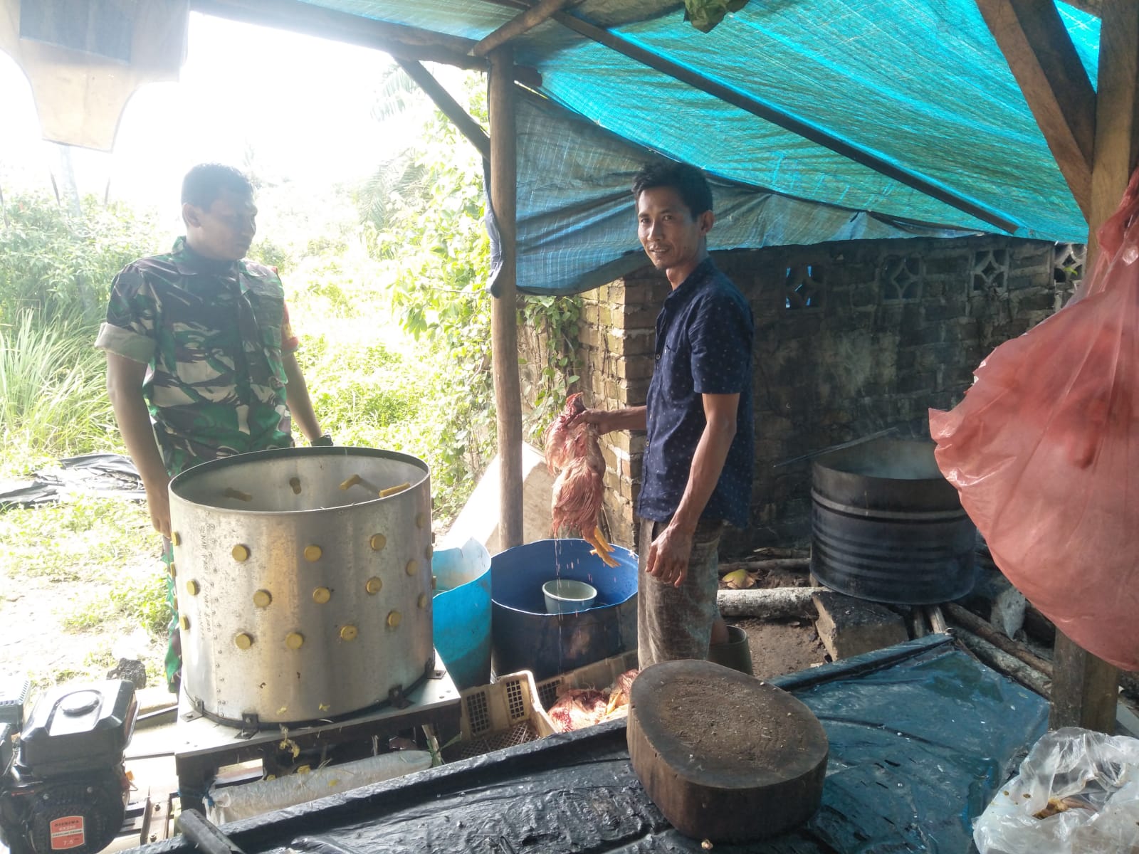
[[[532,671],[535,680],[637,648],[637,556],[614,548],[616,567],[584,540],[539,540],[491,558],[491,650],[495,673]],[[592,607],[547,614],[551,578],[597,588]]]

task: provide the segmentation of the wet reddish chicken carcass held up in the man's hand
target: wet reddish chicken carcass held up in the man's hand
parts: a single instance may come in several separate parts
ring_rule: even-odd
[[[570,426],[574,416],[585,411],[581,394],[571,394],[565,409],[546,432],[546,466],[550,474],[559,473],[554,482],[550,519],[554,535],[562,528],[581,533],[607,566],[617,566],[611,547],[597,526],[597,515],[605,496],[605,459],[597,441],[597,427],[579,422]]]

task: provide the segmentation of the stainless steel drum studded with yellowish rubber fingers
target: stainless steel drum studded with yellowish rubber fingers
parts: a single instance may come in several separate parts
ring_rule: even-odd
[[[434,666],[431,479],[415,457],[262,451],[171,483],[182,685],[211,717],[301,723]]]

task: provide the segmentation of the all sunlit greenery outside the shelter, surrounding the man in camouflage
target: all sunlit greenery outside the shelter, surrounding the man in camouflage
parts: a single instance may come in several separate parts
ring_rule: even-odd
[[[400,97],[378,120],[427,115],[412,109],[421,96],[400,75],[388,81]],[[469,112],[485,123],[482,80],[473,76],[466,91]],[[434,518],[445,524],[494,452],[490,245],[480,156],[440,114],[429,115],[419,139],[358,187],[259,175],[251,154],[245,166],[262,215],[249,254],[282,276],[321,426],[337,444],[425,459]],[[104,359],[91,345],[114,274],[170,241],[153,216],[122,205],[88,198],[72,215],[43,196],[5,198],[0,479],[25,477],[65,455],[123,452]],[[519,298],[518,310],[541,361],[524,371],[534,441],[576,380],[581,305],[530,297]],[[52,646],[50,670],[31,668],[36,682],[103,678],[115,664],[108,639],[141,631],[151,681],[161,683],[169,610],[158,545],[140,503],[75,496],[0,511],[6,631],[17,631],[22,602],[34,598],[41,613],[51,603],[62,631],[82,638]],[[34,622],[24,629],[47,631]]]

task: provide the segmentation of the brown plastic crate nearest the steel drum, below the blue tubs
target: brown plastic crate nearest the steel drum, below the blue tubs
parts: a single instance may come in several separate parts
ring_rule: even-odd
[[[538,700],[534,674],[530,671],[468,688],[459,693],[459,740],[443,748],[446,762],[554,734],[554,724]]]

